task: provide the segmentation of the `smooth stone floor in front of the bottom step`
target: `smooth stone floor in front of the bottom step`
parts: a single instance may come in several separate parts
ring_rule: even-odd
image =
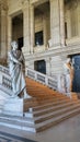
[[[4,127],[0,127],[0,132],[8,133],[8,139],[12,139],[12,141],[5,141],[1,139],[0,133],[0,142],[80,142],[80,115],[41,133],[30,133]],[[2,135],[2,138],[7,138],[7,135]]]

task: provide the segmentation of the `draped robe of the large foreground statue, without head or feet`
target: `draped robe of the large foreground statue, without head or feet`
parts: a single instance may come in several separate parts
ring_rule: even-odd
[[[21,62],[21,64],[19,64]],[[15,96],[18,96],[26,86],[24,78],[24,57],[22,51],[12,50],[9,52],[9,68],[12,80],[12,88]]]

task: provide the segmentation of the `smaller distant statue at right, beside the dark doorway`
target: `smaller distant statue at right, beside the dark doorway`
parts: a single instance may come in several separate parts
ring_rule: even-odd
[[[71,59],[68,58],[66,63],[64,64],[65,75],[66,75],[66,92],[70,93],[72,91],[72,82],[73,82],[73,66]]]

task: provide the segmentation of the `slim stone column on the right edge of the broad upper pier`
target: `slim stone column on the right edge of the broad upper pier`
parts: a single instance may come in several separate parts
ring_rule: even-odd
[[[65,11],[64,0],[59,0],[59,13],[60,13],[60,44],[65,46]]]

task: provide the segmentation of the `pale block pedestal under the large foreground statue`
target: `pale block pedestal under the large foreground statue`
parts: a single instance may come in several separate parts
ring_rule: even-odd
[[[5,100],[2,114],[11,116],[23,116],[23,98],[9,98]]]

